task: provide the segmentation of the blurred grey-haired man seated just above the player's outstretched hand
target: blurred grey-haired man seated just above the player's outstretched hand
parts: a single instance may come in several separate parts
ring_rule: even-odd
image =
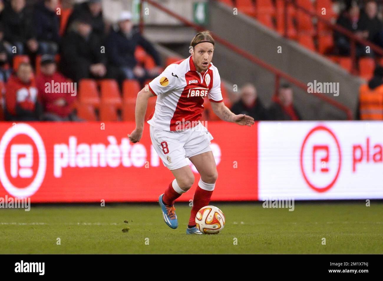
[[[241,99],[231,108],[235,114],[246,114],[254,120],[268,120],[268,112],[257,96],[257,89],[252,84],[246,84],[241,89]]]

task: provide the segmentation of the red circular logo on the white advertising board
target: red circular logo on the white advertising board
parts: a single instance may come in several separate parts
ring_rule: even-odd
[[[339,156],[339,163],[338,163],[337,171],[336,171],[336,173],[334,173],[334,178],[328,184],[324,184],[324,186],[318,186],[318,184],[314,185],[313,182],[309,180],[308,174],[305,172],[304,164],[303,164],[303,160],[304,160],[303,154],[304,154],[305,145],[306,145],[307,141],[309,140],[310,136],[313,135],[313,133],[316,133],[318,131],[324,131],[324,132],[328,133],[331,136],[332,139],[334,139],[334,141],[336,143],[336,148],[337,148],[338,156]],[[313,163],[313,171],[315,171],[315,162],[316,162],[315,155],[316,155],[316,151],[320,151],[320,150],[323,150],[324,152],[327,153],[326,154],[327,156],[325,156],[325,158],[321,159],[321,160],[324,160],[324,161],[322,161],[322,163],[324,163],[324,166],[327,165],[327,162],[329,161],[329,157],[331,156],[331,154],[329,154],[329,146],[328,145],[321,144],[321,145],[313,146],[313,154],[311,156],[311,159],[313,161],[312,162]],[[339,145],[339,142],[338,142],[336,136],[334,135],[334,133],[329,128],[324,127],[322,125],[314,127],[313,129],[311,129],[309,131],[309,133],[306,135],[306,137],[304,138],[304,141],[303,141],[303,144],[302,144],[302,148],[301,148],[300,162],[301,162],[301,171],[302,171],[304,180],[306,181],[306,183],[308,184],[308,186],[311,189],[313,189],[316,192],[326,192],[327,190],[329,190],[334,185],[334,183],[336,182],[336,180],[337,180],[337,178],[339,176],[341,162],[342,162],[342,156],[341,156],[341,153],[340,153],[340,145]],[[321,171],[329,172],[329,168],[322,167]]]

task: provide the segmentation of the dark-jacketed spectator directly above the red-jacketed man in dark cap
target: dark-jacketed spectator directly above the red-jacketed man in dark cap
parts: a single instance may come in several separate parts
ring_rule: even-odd
[[[60,20],[56,14],[59,0],[44,0],[34,7],[33,23],[40,54],[57,54],[60,44]]]

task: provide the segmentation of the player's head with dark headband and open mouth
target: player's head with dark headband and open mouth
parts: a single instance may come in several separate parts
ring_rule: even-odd
[[[210,31],[202,31],[197,33],[191,40],[190,53],[197,71],[206,71],[213,59],[214,39]]]

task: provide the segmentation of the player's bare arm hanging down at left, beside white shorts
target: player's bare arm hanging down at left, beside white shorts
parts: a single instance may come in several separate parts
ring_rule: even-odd
[[[149,87],[144,87],[137,94],[136,100],[136,128],[128,134],[129,140],[132,143],[140,141],[142,136],[142,131],[144,131],[144,122],[145,122],[145,113],[147,108],[147,101],[150,97],[153,97],[153,94],[150,92]]]

